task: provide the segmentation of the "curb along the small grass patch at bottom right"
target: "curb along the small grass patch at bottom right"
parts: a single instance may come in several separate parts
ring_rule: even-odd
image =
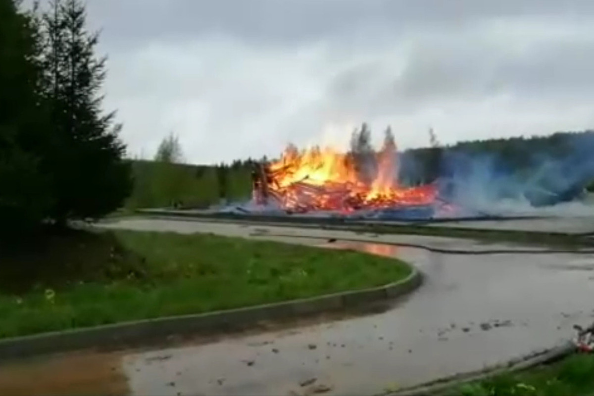
[[[526,356],[512,359],[504,364],[489,366],[481,370],[455,374],[425,384],[415,385],[409,388],[399,389],[397,391],[383,392],[377,396],[424,396],[444,394],[442,392],[448,389],[459,387],[467,382],[480,381],[482,379],[500,375],[503,373],[513,373],[533,368],[555,360],[561,359],[576,351],[576,346],[571,341],[565,341],[558,346],[536,351]]]

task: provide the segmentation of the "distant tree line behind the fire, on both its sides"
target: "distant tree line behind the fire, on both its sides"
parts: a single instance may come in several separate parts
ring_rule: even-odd
[[[428,137],[430,147],[399,151],[395,156],[397,173],[394,176],[398,177],[400,185],[415,186],[438,179],[460,180],[479,175],[497,181],[484,180],[484,183],[494,190],[494,196],[504,197],[507,192],[495,191],[495,185],[509,187],[532,183],[537,189],[563,191],[573,185],[579,188],[594,179],[594,156],[590,155],[594,148],[592,131],[462,141],[453,145],[440,144],[432,129]],[[365,123],[352,132],[347,158],[356,165],[362,179],[377,172],[377,153],[371,140],[372,131]],[[384,130],[380,151],[386,151],[386,148],[396,150],[396,138],[389,127]],[[292,149],[298,150],[296,147]],[[388,154],[394,153],[390,151]],[[132,206],[169,205],[169,202],[177,202],[182,207],[207,206],[221,198],[244,201],[251,194],[250,173],[254,164],[266,161],[266,158],[238,159],[211,166],[175,164],[183,162],[182,158],[178,138],[169,135],[154,157],[153,166],[159,166],[150,172],[153,176],[146,176],[146,170],[142,172],[142,179],[152,180],[153,187],[161,191],[157,195],[162,199],[136,199]],[[171,163],[165,167],[168,161]],[[146,169],[149,164],[144,165]],[[147,189],[140,188],[137,183],[135,191],[133,195],[146,194]],[[517,191],[512,191],[511,195],[515,193]]]

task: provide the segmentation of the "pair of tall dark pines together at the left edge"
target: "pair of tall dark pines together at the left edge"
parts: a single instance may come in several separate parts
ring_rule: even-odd
[[[132,189],[106,58],[80,0],[0,0],[0,232],[105,216]]]

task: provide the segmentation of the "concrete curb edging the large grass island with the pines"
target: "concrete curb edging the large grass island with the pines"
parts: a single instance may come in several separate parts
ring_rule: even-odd
[[[353,308],[366,303],[396,299],[421,286],[423,275],[413,265],[404,279],[384,286],[324,294],[306,299],[228,309],[195,315],[166,316],[141,321],[121,322],[77,330],[46,332],[0,340],[0,360],[41,354],[148,343],[172,335],[244,328],[261,321],[298,318],[316,313]]]

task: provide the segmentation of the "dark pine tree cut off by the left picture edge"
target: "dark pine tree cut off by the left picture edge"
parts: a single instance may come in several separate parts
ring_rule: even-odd
[[[0,242],[30,232],[52,205],[40,157],[46,124],[38,38],[32,15],[0,0]]]

